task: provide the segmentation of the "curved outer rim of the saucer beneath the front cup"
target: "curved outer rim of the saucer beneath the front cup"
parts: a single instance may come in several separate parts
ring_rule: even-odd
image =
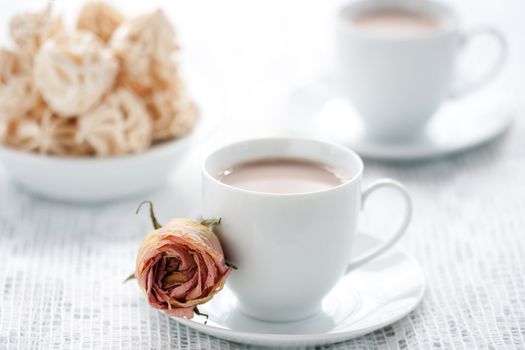
[[[370,234],[364,234],[369,237],[372,237],[378,241],[382,241],[382,239],[370,235]],[[384,328],[390,324],[393,324],[403,318],[405,318],[407,315],[409,315],[412,311],[414,311],[422,302],[427,290],[428,290],[428,282],[427,278],[425,276],[424,270],[417,261],[416,258],[412,257],[409,254],[406,254],[405,252],[401,251],[398,248],[392,249],[387,254],[401,254],[404,259],[409,260],[414,266],[417,266],[419,269],[419,278],[421,280],[420,283],[420,291],[417,296],[417,300],[414,302],[412,306],[407,308],[407,310],[403,313],[400,313],[396,315],[395,317],[374,324],[373,326],[369,326],[362,329],[357,330],[347,330],[342,332],[336,332],[336,333],[318,333],[318,334],[275,334],[275,333],[254,333],[254,332],[243,332],[243,331],[237,331],[232,329],[226,329],[226,328],[219,328],[215,326],[205,325],[200,322],[191,320],[191,319],[184,319],[184,318],[177,318],[177,317],[171,317],[175,321],[190,327],[196,331],[202,332],[207,335],[211,335],[214,337],[234,341],[234,342],[242,342],[246,344],[253,344],[253,345],[273,345],[273,346],[293,346],[293,345],[322,345],[322,344],[328,344],[328,343],[337,343],[344,340],[349,340],[353,338],[357,338],[360,336],[363,336],[365,334],[371,333],[373,331],[376,331],[378,329]],[[373,263],[373,260],[370,262]],[[360,268],[366,267],[368,264],[364,264]],[[359,270],[360,268],[357,268],[356,270]],[[265,322],[265,321],[261,321]],[[270,322],[271,323],[271,322]]]

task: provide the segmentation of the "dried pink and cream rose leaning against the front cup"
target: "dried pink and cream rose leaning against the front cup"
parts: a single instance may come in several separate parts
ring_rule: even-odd
[[[218,222],[173,219],[161,227],[149,204],[155,230],[139,248],[135,278],[152,307],[192,318],[199,313],[197,305],[222,289],[231,271],[212,231]]]

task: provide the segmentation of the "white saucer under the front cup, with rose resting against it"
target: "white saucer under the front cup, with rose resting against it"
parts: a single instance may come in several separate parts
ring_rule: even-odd
[[[358,235],[355,241],[356,255],[380,242],[369,235]],[[415,309],[424,292],[419,264],[392,250],[345,276],[323,301],[322,312],[306,320],[272,323],[252,319],[236,308],[236,299],[227,288],[199,307],[209,315],[206,325],[203,316],[175,319],[209,335],[246,344],[321,345],[359,337],[403,318]]]

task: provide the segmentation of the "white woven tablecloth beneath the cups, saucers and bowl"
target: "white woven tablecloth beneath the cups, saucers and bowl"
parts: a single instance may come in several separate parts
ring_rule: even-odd
[[[14,11],[23,3],[3,2],[2,9]],[[324,37],[308,31],[309,24],[316,25],[316,16],[327,20],[338,1],[327,1],[325,7],[321,1],[217,3],[221,5],[176,2],[177,10],[166,9],[179,21],[181,39],[193,57],[189,65],[201,67],[200,72],[220,87],[215,91],[223,102],[225,121],[181,160],[166,187],[148,195],[161,220],[198,216],[198,162],[203,152],[226,139],[271,134],[273,119],[268,115],[278,114],[282,96],[309,78],[304,72],[328,59],[318,46],[310,46],[309,41],[319,44]],[[466,3],[474,4],[458,6],[472,22],[476,16],[494,17],[507,32],[525,29],[517,20],[523,10],[517,1],[475,2],[476,15]],[[232,9],[237,16],[223,23],[217,14],[225,16]],[[4,25],[10,12],[2,12]],[[217,30],[213,38],[210,27]],[[265,39],[271,35],[286,40]],[[520,52],[515,52],[515,61]],[[518,67],[507,74],[519,75]],[[516,91],[522,85],[509,86]],[[413,196],[414,221],[398,248],[420,262],[428,292],[401,321],[321,348],[525,348],[522,110],[503,138],[469,153],[432,162],[366,162],[365,182],[397,178]],[[146,215],[134,214],[141,199],[96,206],[51,202],[16,187],[0,167],[0,349],[247,348],[179,325],[149,308],[135,282],[122,283],[150,229]]]

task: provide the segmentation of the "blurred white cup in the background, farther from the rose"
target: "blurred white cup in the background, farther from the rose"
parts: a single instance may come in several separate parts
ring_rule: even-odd
[[[407,10],[437,19],[428,32],[374,32],[352,18],[378,10]],[[499,54],[484,74],[456,81],[458,54],[471,39],[490,36]],[[367,133],[377,139],[416,136],[438,107],[490,81],[507,57],[505,38],[483,26],[462,32],[458,17],[444,4],[427,0],[364,0],[343,6],[337,15],[336,51],[341,82]]]

